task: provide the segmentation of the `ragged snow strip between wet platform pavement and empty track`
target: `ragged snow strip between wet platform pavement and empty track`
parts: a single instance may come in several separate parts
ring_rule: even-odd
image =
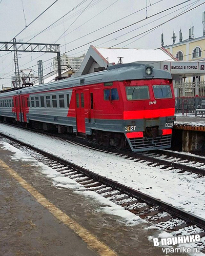
[[[79,195],[90,197],[100,202],[102,206],[99,209],[96,209],[96,212],[104,211],[110,215],[120,216],[121,220],[118,221],[128,226],[137,225],[143,222],[147,223],[145,220],[139,218],[139,216],[136,216],[128,210],[125,210],[119,205],[116,205],[109,199],[106,199],[93,191],[88,191],[83,185],[80,185],[79,183],[71,180],[70,178],[68,178],[68,176],[64,176],[63,174],[58,173],[56,170],[46,166],[45,164],[37,162],[33,159],[33,157],[28,156],[26,153],[13,147],[12,145],[6,142],[0,142],[0,144],[3,145],[3,148],[8,149],[9,151],[14,153],[14,155],[11,156],[12,160],[22,160],[31,163],[32,166],[39,166],[40,171],[52,179],[54,186],[72,189],[73,192]]]

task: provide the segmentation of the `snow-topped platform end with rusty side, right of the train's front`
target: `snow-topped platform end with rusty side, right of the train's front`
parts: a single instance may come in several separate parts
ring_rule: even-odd
[[[185,152],[205,152],[205,117],[176,114],[173,147]]]

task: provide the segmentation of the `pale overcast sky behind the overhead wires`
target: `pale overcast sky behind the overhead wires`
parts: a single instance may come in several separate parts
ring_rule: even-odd
[[[182,30],[183,40],[189,37],[189,28],[194,26],[195,37],[203,35],[202,12],[205,11],[205,4],[183,14],[172,21],[163,24],[153,31],[145,31],[154,28],[176,16],[177,14],[189,10],[199,4],[204,3],[202,0],[191,0],[187,3],[179,5],[161,14],[150,17],[160,11],[166,10],[172,6],[183,3],[186,0],[147,0],[147,19],[139,22],[129,28],[118,31],[112,35],[102,38],[92,45],[95,47],[125,47],[125,48],[159,48],[161,46],[161,33],[164,34],[165,45],[172,44],[173,30],[177,36],[178,42],[179,30]],[[11,41],[26,25],[29,25],[40,13],[48,8],[55,0],[0,0],[0,41]],[[16,40],[29,41],[33,36],[47,28],[49,25],[57,21],[60,17],[75,8],[82,0],[58,0],[49,10],[28,26],[20,33]],[[159,2],[159,3],[157,3]],[[23,12],[24,6],[24,12]],[[96,40],[101,36],[105,36],[118,29],[126,27],[132,23],[136,23],[146,18],[146,0],[85,0],[83,4],[71,11],[58,23],[51,26],[48,30],[35,36],[32,43],[56,43],[60,44],[61,53],[68,52],[69,56],[80,56],[87,52],[90,44],[73,50],[76,47],[87,44]],[[136,12],[133,15],[133,12]],[[26,22],[25,22],[25,18]],[[110,26],[110,23],[117,21]],[[95,17],[94,17],[95,16]],[[150,18],[149,18],[150,17]],[[76,21],[75,21],[76,19]],[[155,21],[157,19],[157,21]],[[89,21],[90,20],[90,21]],[[149,24],[148,24],[149,23]],[[100,29],[101,27],[104,27]],[[68,29],[68,30],[67,30]],[[67,31],[66,31],[67,30]],[[93,31],[97,30],[94,33]],[[65,32],[66,31],[66,32]],[[58,39],[65,32],[60,39]],[[90,35],[87,35],[91,33]],[[144,34],[141,34],[144,33]],[[141,34],[130,41],[121,43],[129,38]],[[84,36],[85,35],[85,36]],[[87,35],[87,36],[86,36]],[[84,36],[80,40],[78,37]],[[69,43],[71,41],[74,41]],[[121,44],[119,44],[121,43]],[[65,46],[66,44],[66,46]],[[0,88],[2,84],[10,85],[10,77],[14,74],[13,52],[0,51]],[[5,55],[6,54],[6,55]],[[44,74],[52,71],[51,62],[47,61],[56,54],[53,53],[28,53],[21,52],[19,55],[19,69],[33,69],[33,73],[37,75],[37,61],[43,60]],[[4,56],[3,56],[4,55]]]

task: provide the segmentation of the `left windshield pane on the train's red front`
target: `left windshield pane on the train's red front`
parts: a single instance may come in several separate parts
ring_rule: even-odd
[[[126,94],[127,94],[128,101],[150,99],[149,89],[148,89],[147,85],[145,85],[145,86],[127,86]]]

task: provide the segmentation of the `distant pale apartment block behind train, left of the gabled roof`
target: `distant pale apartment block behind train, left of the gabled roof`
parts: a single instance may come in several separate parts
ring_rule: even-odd
[[[60,66],[61,66],[61,70],[67,70],[69,68],[72,68],[75,72],[77,72],[81,66],[81,63],[83,62],[85,57],[85,54],[83,54],[80,57],[69,57],[67,54],[63,54],[60,56]],[[54,71],[58,70],[58,66],[57,66],[57,57],[53,58],[53,68]]]

